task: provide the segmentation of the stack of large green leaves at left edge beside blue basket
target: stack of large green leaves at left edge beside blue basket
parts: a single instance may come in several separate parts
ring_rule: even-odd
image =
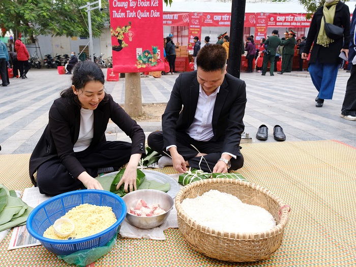
[[[0,184],[0,231],[26,224],[32,210],[14,190]]]

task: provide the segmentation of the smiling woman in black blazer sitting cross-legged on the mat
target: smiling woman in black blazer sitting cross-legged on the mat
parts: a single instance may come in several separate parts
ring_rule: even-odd
[[[83,187],[102,189],[94,177],[106,168],[128,163],[125,190],[136,189],[136,168],[144,154],[140,126],[104,91],[104,75],[91,61],[74,67],[72,86],[62,91],[49,110],[49,122],[29,159],[29,176],[40,192],[57,195]],[[111,119],[132,140],[106,141]],[[37,171],[37,179],[34,173]]]

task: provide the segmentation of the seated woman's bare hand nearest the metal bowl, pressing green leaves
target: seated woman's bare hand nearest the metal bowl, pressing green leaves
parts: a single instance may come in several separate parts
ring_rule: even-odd
[[[116,190],[120,188],[122,184],[124,184],[124,190],[126,193],[132,192],[133,190],[137,190],[136,179],[137,179],[137,165],[140,161],[142,154],[133,154],[130,157],[130,161],[126,166],[124,171],[124,175],[120,182],[118,182],[116,186]],[[130,191],[128,191],[130,189]]]

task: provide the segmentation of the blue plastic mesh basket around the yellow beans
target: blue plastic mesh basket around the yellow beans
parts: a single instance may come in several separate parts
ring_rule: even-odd
[[[117,221],[100,233],[86,238],[72,240],[54,240],[43,237],[46,229],[53,225],[73,207],[81,204],[110,206]],[[117,232],[125,219],[126,204],[121,197],[103,190],[77,190],[52,197],[39,204],[28,216],[28,232],[50,252],[56,255],[69,255],[83,249],[92,249],[106,245]],[[85,220],[85,218],[83,218]]]

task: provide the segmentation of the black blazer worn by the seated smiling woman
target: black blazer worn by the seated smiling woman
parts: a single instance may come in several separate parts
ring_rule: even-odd
[[[106,141],[105,130],[109,118],[132,140],[131,154],[144,154],[142,145],[145,136],[143,130],[134,120],[105,94],[107,103],[100,102],[94,110],[94,134],[91,146]],[[49,110],[49,122],[29,159],[29,176],[34,185],[34,173],[38,167],[51,159],[58,158],[73,177],[77,178],[85,171],[75,157],[73,147],[79,137],[80,107],[60,97],[54,100]]]

